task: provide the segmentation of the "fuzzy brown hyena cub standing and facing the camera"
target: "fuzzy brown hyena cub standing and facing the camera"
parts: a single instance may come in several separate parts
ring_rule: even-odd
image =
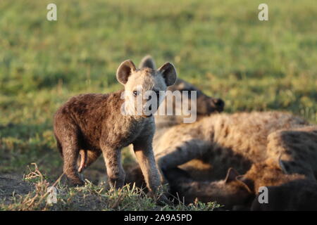
[[[119,66],[116,77],[125,90],[111,94],[81,94],[70,98],[57,110],[54,135],[63,156],[63,171],[73,184],[82,185],[79,172],[102,153],[110,186],[121,187],[125,172],[120,163],[120,150],[132,144],[147,187],[155,192],[160,179],[152,150],[154,117],[148,111],[153,112],[157,108],[145,106],[144,102],[149,101],[151,96],[146,98],[144,93],[154,91],[159,97],[159,107],[163,100],[159,93],[175,83],[176,70],[171,63],[165,63],[158,70],[139,70],[131,60],[125,60]],[[136,104],[139,96],[142,96],[141,114]],[[127,110],[129,115],[124,113]],[[82,160],[77,168],[79,155]]]

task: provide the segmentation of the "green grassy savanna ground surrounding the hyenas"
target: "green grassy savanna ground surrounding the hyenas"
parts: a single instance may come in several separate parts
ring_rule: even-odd
[[[147,54],[226,112],[285,110],[317,123],[317,4],[264,1],[0,1],[0,210],[213,210],[213,203],[159,207],[136,188],[112,191],[88,171],[81,188],[46,188],[62,173],[52,117],[70,96],[115,91],[115,72]],[[123,164],[133,163],[124,150]],[[102,160],[101,160],[102,161]],[[35,162],[35,165],[31,163]],[[30,169],[29,169],[30,167]],[[32,172],[32,173],[30,173]]]

